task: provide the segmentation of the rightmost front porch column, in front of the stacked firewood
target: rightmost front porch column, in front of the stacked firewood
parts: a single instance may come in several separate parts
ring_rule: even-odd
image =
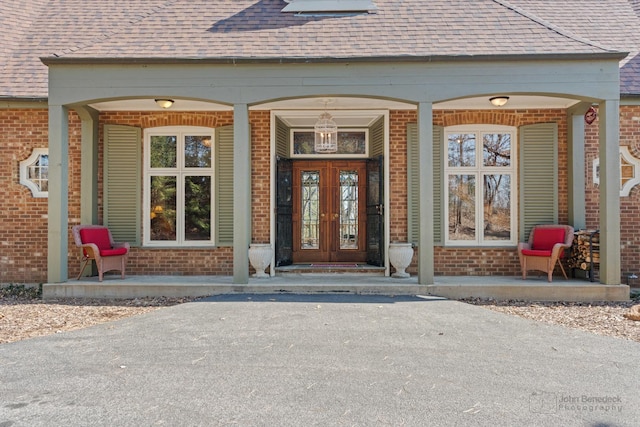
[[[620,284],[620,101],[600,103],[600,282]]]

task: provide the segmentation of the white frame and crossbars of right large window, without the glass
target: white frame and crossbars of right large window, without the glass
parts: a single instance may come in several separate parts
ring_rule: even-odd
[[[476,134],[476,149],[474,166],[453,167],[449,166],[449,135],[452,133],[474,133]],[[488,133],[501,133],[511,135],[511,157],[509,166],[483,166],[482,135]],[[448,126],[444,128],[444,147],[442,150],[442,165],[444,170],[443,197],[444,197],[444,217],[443,232],[445,246],[486,246],[505,247],[513,246],[518,241],[517,220],[518,220],[518,175],[517,175],[517,129],[512,126],[475,124]],[[509,240],[486,240],[483,238],[484,213],[483,213],[483,176],[492,173],[509,175],[511,177],[510,188],[510,239]],[[474,240],[454,240],[449,237],[449,176],[450,175],[473,175],[476,178],[475,188],[475,208],[476,208],[476,236]]]

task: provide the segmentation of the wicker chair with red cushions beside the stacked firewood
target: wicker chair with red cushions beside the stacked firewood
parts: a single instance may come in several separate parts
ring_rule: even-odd
[[[551,282],[556,263],[560,265],[564,278],[569,280],[560,259],[564,250],[572,244],[573,227],[570,225],[534,226],[529,241],[518,244],[522,280],[527,278],[527,271],[537,270],[547,273],[547,279]]]

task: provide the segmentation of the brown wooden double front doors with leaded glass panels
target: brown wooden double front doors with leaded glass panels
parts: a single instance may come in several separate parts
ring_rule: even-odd
[[[366,161],[293,163],[293,262],[365,262]]]

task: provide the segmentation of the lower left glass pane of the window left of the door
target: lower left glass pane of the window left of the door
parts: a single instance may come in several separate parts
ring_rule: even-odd
[[[151,240],[176,240],[175,176],[151,177]]]

